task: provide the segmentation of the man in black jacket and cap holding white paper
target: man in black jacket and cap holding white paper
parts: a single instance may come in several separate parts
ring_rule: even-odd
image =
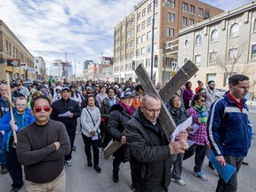
[[[61,91],[61,99],[52,103],[51,119],[60,121],[65,124],[68,132],[71,148],[74,146],[76,138],[76,118],[81,116],[81,108],[76,100],[71,100],[71,91],[69,87],[63,87]],[[70,148],[70,149],[71,149]],[[72,150],[68,156],[65,156],[65,163],[68,166],[72,165]]]

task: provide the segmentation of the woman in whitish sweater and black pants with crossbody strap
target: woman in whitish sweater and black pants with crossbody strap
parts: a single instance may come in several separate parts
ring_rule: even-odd
[[[87,164],[92,167],[93,164],[96,172],[101,172],[99,166],[99,145],[100,145],[100,109],[95,106],[94,95],[89,95],[86,100],[87,107],[83,108],[81,114],[82,137],[84,140],[84,151],[87,156]]]

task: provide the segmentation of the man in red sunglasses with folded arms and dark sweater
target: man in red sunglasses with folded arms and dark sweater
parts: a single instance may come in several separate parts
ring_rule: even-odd
[[[31,101],[36,122],[18,135],[17,156],[24,165],[25,189],[29,191],[65,191],[64,156],[70,152],[65,125],[51,120],[51,101],[44,95]]]

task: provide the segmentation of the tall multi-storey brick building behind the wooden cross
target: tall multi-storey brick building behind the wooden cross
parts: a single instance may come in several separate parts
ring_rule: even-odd
[[[164,0],[142,0],[140,4],[134,6],[130,14],[116,24],[113,66],[115,81],[124,82],[132,78],[132,81],[138,82],[135,68],[142,64],[150,74],[151,63],[155,82],[163,83],[164,78],[170,79],[171,64],[177,59],[166,55],[170,44],[165,43],[176,39],[180,28],[194,25],[223,12],[197,0],[169,2],[171,6],[164,7],[162,5]],[[155,20],[154,28],[153,20]],[[153,62],[151,62],[152,58]]]

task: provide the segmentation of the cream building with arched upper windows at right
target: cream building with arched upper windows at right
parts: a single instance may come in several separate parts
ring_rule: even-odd
[[[256,2],[183,28],[179,34],[178,67],[192,60],[199,71],[190,80],[228,90],[228,76],[244,74],[256,81]]]

